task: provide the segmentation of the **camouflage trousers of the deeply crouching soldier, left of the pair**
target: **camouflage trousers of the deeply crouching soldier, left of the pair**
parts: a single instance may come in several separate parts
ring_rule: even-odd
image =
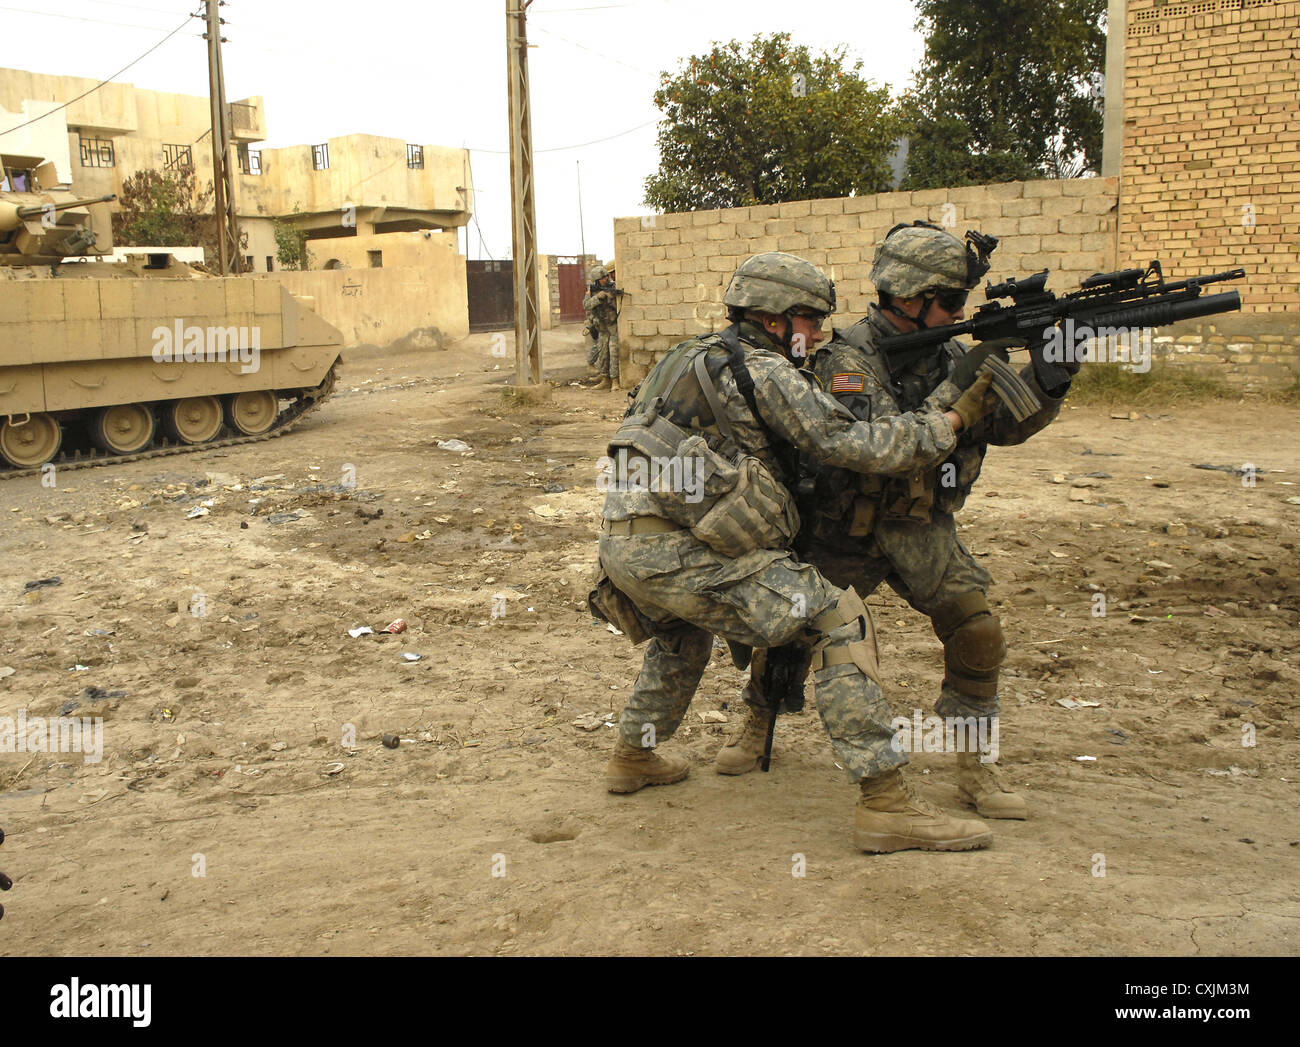
[[[841,589],[788,551],[758,550],[728,558],[680,531],[601,537],[610,580],[650,620],[651,639],[632,697],[619,717],[629,745],[655,745],[676,732],[712,654],[714,636],[753,648],[827,639],[812,619],[838,602]],[[836,630],[829,633],[838,640]],[[836,760],[857,782],[876,766],[892,731],[871,718],[884,706],[880,684],[857,665],[812,674],[816,708]],[[890,750],[892,752],[892,750]],[[893,753],[896,765],[907,762]]]

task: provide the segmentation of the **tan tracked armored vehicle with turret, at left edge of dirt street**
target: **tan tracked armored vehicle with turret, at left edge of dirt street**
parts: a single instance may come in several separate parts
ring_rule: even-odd
[[[342,336],[276,280],[104,260],[112,199],[0,191],[0,479],[264,440],[333,390]]]

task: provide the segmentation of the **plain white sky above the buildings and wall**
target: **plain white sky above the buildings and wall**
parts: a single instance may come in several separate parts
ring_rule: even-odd
[[[200,8],[3,0],[0,66],[108,77]],[[469,147],[486,246],[471,225],[469,258],[510,256],[504,0],[230,0],[221,14],[228,100],[263,95],[266,146],[367,133]],[[848,44],[863,74],[897,94],[922,57],[914,23],[910,0],[536,0],[528,27],[538,248],[580,250],[578,161],[588,251],[610,258],[612,220],[647,211],[644,181],[658,166],[653,96],[679,59],[715,40],[790,33],[814,49]],[[202,31],[195,20],[121,79],[207,95]]]

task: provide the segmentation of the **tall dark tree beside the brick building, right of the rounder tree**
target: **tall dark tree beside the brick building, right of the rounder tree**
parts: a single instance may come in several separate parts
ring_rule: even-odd
[[[996,10],[989,10],[996,8]],[[916,0],[904,189],[1096,170],[1106,0]]]

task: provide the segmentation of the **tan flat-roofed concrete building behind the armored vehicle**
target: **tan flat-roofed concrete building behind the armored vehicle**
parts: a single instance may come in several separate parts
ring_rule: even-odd
[[[191,166],[200,185],[212,179],[207,98],[146,91],[130,83],[92,90],[96,83],[0,69],[0,152],[17,160],[53,160],[60,183],[87,196],[121,192],[124,179],[146,169]],[[60,109],[66,99],[78,100]],[[404,265],[456,252],[455,233],[442,234],[471,219],[473,179],[467,150],[367,134],[259,150],[256,144],[266,138],[261,98],[229,107],[239,164],[235,205],[248,238],[248,269],[280,268],[276,219],[306,229],[311,239],[367,241],[364,248],[356,243],[350,250],[313,247],[313,268],[330,260],[335,268],[378,268],[386,250],[400,255]],[[10,166],[17,178],[25,177],[21,163]],[[382,239],[412,232],[436,235],[404,239],[400,246]]]

